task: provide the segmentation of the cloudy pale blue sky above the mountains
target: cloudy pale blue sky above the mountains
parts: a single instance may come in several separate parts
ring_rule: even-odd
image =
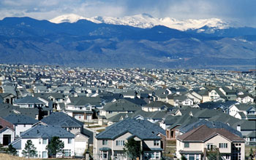
[[[147,13],[179,20],[217,17],[256,27],[256,0],[1,0],[0,19],[50,20],[64,14],[124,17]]]

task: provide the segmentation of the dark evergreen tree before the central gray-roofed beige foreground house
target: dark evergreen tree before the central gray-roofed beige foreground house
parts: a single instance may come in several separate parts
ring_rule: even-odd
[[[128,142],[124,144],[124,153],[127,154],[130,159],[136,159],[137,157],[140,157],[140,142],[134,140],[133,138],[129,139]]]

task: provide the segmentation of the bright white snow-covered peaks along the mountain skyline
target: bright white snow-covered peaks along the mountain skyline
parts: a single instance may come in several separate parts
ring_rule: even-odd
[[[107,23],[114,25],[131,25],[138,28],[152,28],[155,25],[165,25],[168,28],[178,29],[180,31],[187,31],[188,29],[197,29],[207,26],[209,28],[224,29],[229,28],[230,23],[227,23],[218,18],[203,19],[203,20],[176,20],[171,17],[157,18],[148,14],[132,15],[125,17],[81,17],[79,15],[61,15],[50,20],[52,23],[69,22],[75,23],[77,20],[90,20],[94,23]],[[200,31],[199,31],[200,32]]]

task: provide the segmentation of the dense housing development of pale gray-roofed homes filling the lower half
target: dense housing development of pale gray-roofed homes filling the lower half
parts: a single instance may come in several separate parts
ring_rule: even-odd
[[[0,65],[0,144],[25,156],[141,160],[250,159],[255,71]],[[251,151],[252,148],[252,151]]]

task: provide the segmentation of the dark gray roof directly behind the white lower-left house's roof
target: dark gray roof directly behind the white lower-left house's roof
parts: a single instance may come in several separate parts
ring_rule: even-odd
[[[63,112],[53,112],[41,120],[45,124],[60,127],[83,127],[83,122]]]

